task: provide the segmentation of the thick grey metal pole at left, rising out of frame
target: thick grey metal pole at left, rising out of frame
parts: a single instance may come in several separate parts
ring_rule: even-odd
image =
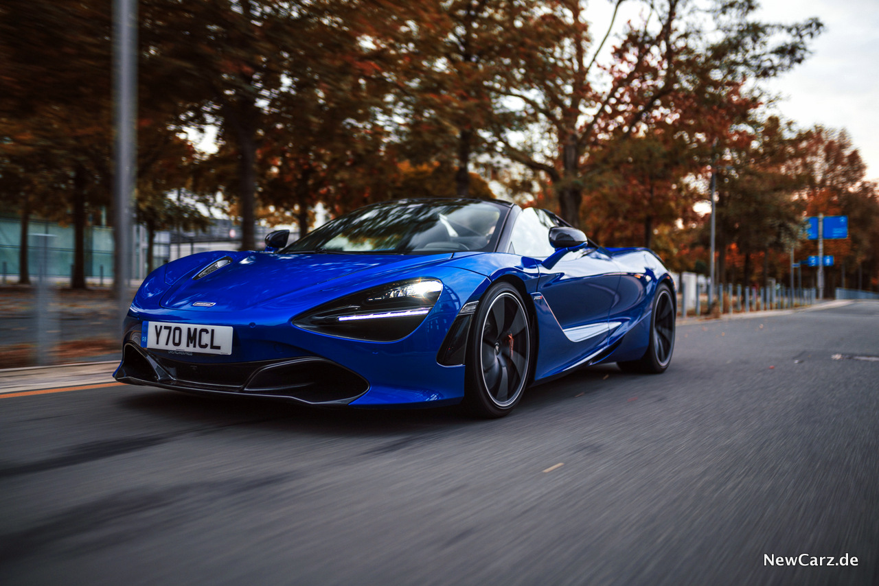
[[[119,317],[127,315],[130,272],[131,209],[137,156],[137,4],[113,0],[113,88],[116,127],[115,257],[113,292]]]

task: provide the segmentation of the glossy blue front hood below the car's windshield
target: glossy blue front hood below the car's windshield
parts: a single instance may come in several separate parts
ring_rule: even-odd
[[[400,271],[440,264],[452,255],[236,253],[229,257],[232,263],[201,279],[188,274],[179,279],[164,293],[162,307],[197,309],[193,303],[199,301],[213,303],[214,311],[293,307],[312,297],[316,302],[325,300],[337,290],[342,295],[378,285]]]

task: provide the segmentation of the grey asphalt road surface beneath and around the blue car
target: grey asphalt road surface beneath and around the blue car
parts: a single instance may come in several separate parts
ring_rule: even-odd
[[[686,325],[663,375],[594,367],[490,422],[0,396],[0,583],[873,584],[869,356],[879,302]],[[766,564],[802,553],[857,565]]]

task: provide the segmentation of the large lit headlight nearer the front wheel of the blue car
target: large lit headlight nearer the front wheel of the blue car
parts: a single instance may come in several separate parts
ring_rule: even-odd
[[[347,295],[294,317],[294,324],[331,336],[391,342],[409,336],[442,293],[438,279],[413,279]]]

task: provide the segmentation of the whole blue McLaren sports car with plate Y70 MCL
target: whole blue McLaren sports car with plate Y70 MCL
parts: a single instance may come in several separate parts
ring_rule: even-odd
[[[583,365],[662,373],[674,282],[545,210],[479,199],[362,207],[287,245],[203,252],[150,273],[115,377],[201,394],[509,413]]]

